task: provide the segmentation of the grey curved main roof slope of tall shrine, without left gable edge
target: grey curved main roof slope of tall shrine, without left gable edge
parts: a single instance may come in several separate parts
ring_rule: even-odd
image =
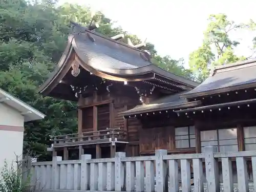
[[[199,85],[157,67],[148,53],[92,31],[74,34],[72,46],[84,63],[103,73],[132,76],[152,72],[193,88]]]

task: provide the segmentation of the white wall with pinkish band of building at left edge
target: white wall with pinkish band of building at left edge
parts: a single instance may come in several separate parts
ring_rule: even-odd
[[[16,155],[22,158],[23,127],[24,116],[10,106],[0,103],[0,170],[5,160],[11,165],[16,160]]]

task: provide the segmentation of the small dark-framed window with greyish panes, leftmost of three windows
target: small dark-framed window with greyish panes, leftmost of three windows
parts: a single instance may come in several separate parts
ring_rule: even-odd
[[[194,126],[175,128],[175,146],[176,148],[196,147],[196,135]]]

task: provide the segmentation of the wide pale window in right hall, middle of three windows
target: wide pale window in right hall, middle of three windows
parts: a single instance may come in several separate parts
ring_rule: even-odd
[[[237,129],[219,129],[201,131],[201,151],[204,146],[217,146],[219,152],[237,152]]]

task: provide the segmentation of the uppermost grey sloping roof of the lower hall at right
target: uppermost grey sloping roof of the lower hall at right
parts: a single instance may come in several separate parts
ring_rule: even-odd
[[[256,86],[256,59],[240,61],[216,68],[212,75],[195,89],[180,94],[193,98]]]

